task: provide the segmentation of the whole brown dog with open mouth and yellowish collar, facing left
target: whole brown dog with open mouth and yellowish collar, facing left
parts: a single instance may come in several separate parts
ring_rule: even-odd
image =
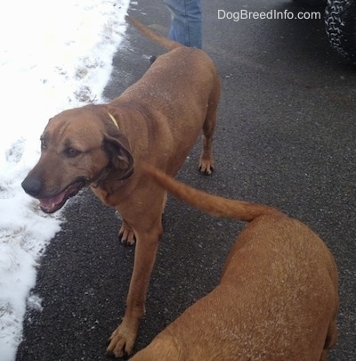
[[[122,240],[133,243],[135,237],[125,317],[108,347],[116,357],[134,348],[162,234],[166,193],[143,176],[142,165],[173,176],[203,130],[199,167],[210,174],[220,96],[220,81],[206,53],[160,37],[138,21],[128,21],[171,51],[159,56],[137,83],[109,104],[63,111],[50,119],[41,136],[41,158],[22,182],[48,213],[90,185],[101,201],[123,217]]]

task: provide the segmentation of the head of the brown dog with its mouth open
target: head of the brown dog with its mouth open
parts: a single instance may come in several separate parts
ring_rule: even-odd
[[[134,159],[125,135],[105,106],[63,111],[50,119],[41,135],[41,157],[22,188],[53,213],[79,190],[115,172],[123,180]]]

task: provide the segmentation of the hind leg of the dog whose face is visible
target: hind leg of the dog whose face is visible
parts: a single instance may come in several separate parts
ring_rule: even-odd
[[[213,160],[213,135],[216,127],[216,111],[220,99],[220,81],[216,78],[216,84],[209,96],[207,103],[206,119],[203,125],[203,149],[199,160],[200,172],[211,174],[214,170]]]

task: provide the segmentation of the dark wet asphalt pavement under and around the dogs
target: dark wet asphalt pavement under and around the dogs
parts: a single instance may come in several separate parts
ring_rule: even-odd
[[[269,204],[320,234],[340,274],[339,341],[329,360],[355,360],[356,70],[329,47],[322,19],[233,21],[218,19],[219,9],[301,11],[283,0],[203,1],[204,49],[223,86],[215,171],[198,173],[197,144],[178,178]],[[167,34],[162,1],[132,2],[129,13]],[[164,50],[127,29],[104,95],[133,84],[158,53]],[[109,334],[124,316],[134,248],[118,242],[115,211],[84,191],[63,217],[33,290],[44,308],[28,309],[17,361],[107,360]],[[164,226],[136,349],[214,288],[244,225],[169,198]]]

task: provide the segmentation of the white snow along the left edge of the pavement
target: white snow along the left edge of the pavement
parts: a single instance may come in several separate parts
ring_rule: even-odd
[[[39,157],[39,136],[54,114],[101,103],[129,0],[19,0],[0,12],[0,355],[12,361],[36,265],[61,229],[20,183]]]

